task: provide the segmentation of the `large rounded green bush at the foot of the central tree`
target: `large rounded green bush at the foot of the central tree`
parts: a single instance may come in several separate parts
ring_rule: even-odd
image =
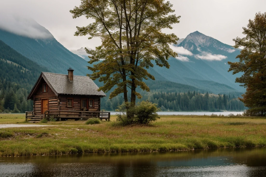
[[[119,106],[120,114],[117,114],[117,122],[123,125],[130,124],[149,124],[160,118],[157,114],[157,104],[152,104],[148,101],[137,103],[134,107],[129,107],[127,110],[126,104]],[[125,113],[127,112],[127,114]],[[122,114],[121,114],[122,112]]]

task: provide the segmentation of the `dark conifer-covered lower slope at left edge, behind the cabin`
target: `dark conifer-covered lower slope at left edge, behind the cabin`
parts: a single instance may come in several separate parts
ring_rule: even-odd
[[[0,112],[32,110],[32,102],[26,100],[28,92],[45,67],[32,62],[0,40]]]

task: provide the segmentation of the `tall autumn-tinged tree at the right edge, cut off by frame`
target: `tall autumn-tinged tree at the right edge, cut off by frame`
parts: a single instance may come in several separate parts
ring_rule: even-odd
[[[266,111],[266,13],[256,13],[254,20],[249,20],[243,27],[244,38],[235,38],[235,48],[243,47],[236,57],[239,62],[228,62],[233,74],[243,72],[236,78],[247,90],[239,98],[249,115],[265,116]]]

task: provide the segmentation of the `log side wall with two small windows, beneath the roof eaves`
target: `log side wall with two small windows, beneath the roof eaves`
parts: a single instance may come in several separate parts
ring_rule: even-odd
[[[73,107],[66,106],[66,99],[73,98]],[[60,110],[66,111],[80,111],[81,110],[81,99],[94,99],[94,107],[88,109],[88,111],[100,111],[101,99],[99,96],[77,96],[77,95],[59,95],[59,107]]]

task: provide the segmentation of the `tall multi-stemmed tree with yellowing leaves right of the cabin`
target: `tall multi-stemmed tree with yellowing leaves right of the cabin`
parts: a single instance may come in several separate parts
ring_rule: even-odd
[[[155,78],[147,69],[158,66],[169,68],[169,57],[176,57],[169,44],[176,44],[175,34],[165,34],[162,29],[172,29],[180,16],[173,14],[172,4],[164,0],[81,0],[81,5],[70,12],[73,18],[85,16],[95,21],[85,27],[77,27],[75,35],[99,37],[102,45],[95,50],[86,49],[90,55],[88,67],[92,79],[104,85],[100,90],[109,91],[110,99],[123,93],[124,101],[135,106],[136,88],[149,91],[143,79]],[[102,60],[101,62],[99,62]],[[130,95],[127,94],[128,90]]]

